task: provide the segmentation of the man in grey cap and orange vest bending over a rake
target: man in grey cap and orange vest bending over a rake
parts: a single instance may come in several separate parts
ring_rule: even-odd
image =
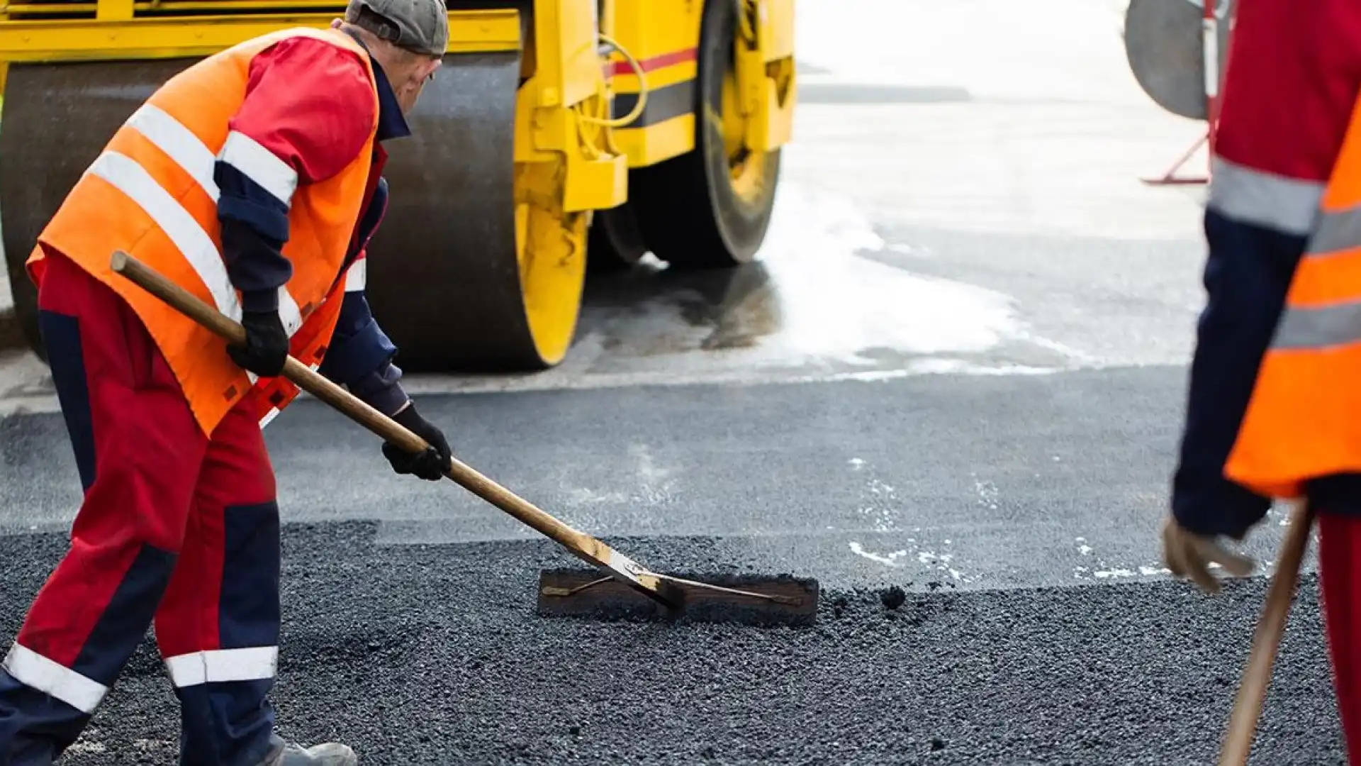
[[[444,0],[351,0],[189,67],[113,135],[29,259],[84,502],[0,669],[0,766],[50,765],[155,626],[181,763],[339,766],[274,733],[279,510],[261,427],[289,353],[433,444],[363,297],[387,153],[448,45]],[[220,247],[219,247],[220,244]],[[110,273],[124,249],[246,328],[242,348]]]

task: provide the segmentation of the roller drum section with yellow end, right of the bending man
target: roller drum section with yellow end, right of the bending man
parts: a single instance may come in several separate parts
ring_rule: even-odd
[[[535,371],[572,345],[587,214],[562,210],[561,161],[514,161],[536,87],[520,67],[514,50],[446,56],[389,147],[366,292],[406,369]]]

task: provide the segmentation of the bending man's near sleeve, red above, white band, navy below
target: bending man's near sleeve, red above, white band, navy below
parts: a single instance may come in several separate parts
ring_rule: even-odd
[[[293,275],[280,249],[294,191],[352,162],[377,112],[365,63],[348,49],[297,37],[250,63],[214,170],[223,256],[245,311],[278,309],[278,290]]]

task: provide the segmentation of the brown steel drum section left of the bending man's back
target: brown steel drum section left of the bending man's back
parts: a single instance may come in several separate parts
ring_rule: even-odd
[[[15,309],[34,348],[37,290],[23,262],[38,233],[118,127],[161,83],[193,61],[10,67],[0,124],[0,230]]]

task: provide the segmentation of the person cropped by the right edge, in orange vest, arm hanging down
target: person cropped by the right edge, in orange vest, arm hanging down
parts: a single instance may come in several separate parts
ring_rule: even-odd
[[[1334,684],[1361,763],[1361,5],[1237,8],[1204,213],[1200,315],[1164,557],[1215,592],[1219,547],[1308,497]]]

